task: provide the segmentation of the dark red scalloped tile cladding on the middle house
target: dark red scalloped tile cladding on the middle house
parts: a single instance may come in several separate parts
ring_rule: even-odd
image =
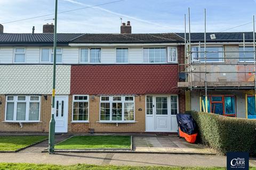
[[[70,94],[179,94],[177,64],[72,65]]]

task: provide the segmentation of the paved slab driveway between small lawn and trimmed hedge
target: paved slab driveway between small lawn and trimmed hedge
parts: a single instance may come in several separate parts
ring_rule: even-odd
[[[214,154],[215,152],[202,145],[188,143],[177,135],[133,136],[133,149],[146,152],[178,152],[195,154]]]

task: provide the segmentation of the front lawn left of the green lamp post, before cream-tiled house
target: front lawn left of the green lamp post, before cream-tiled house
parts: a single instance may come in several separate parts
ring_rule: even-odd
[[[46,139],[45,135],[37,136],[0,136],[0,151],[15,151]]]

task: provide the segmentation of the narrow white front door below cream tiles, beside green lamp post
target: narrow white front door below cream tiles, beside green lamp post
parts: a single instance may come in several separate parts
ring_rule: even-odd
[[[55,132],[68,132],[68,96],[55,96]]]

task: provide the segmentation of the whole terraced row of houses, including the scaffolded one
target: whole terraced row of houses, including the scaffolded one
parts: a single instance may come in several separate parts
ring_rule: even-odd
[[[0,131],[49,131],[53,29],[0,25]],[[131,31],[58,33],[56,132],[177,132],[177,113],[206,108],[256,118],[252,32],[207,33],[204,53],[204,33],[189,52],[184,33]]]

